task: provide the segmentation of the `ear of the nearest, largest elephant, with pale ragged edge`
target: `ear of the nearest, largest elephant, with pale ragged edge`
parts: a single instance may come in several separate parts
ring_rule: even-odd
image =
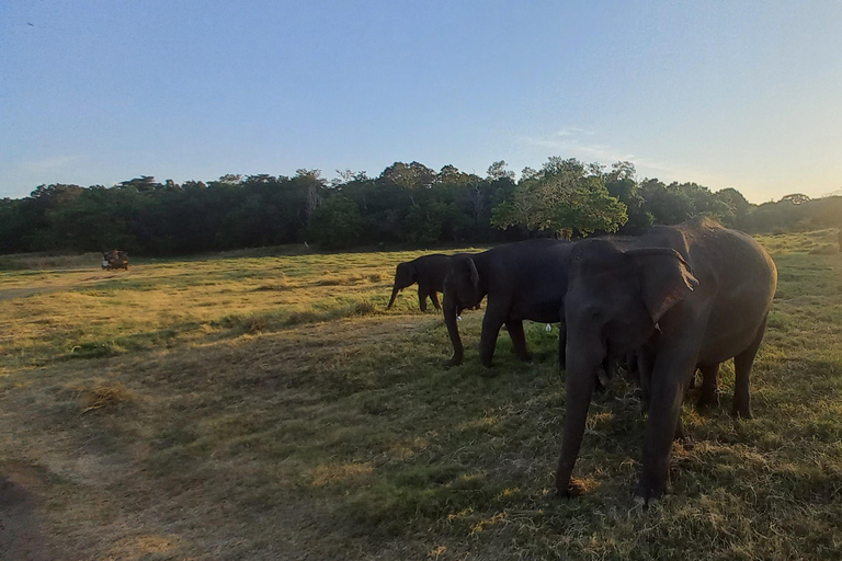
[[[671,248],[641,248],[626,251],[634,259],[640,274],[640,289],[652,323],[667,310],[690,296],[698,279],[690,264]]]

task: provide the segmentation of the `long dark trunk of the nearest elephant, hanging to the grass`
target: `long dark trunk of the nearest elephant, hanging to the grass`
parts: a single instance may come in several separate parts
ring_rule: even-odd
[[[571,353],[572,351],[572,353]],[[591,393],[596,380],[596,366],[601,360],[582,356],[576,347],[567,350],[567,396],[565,398],[565,435],[561,443],[561,456],[556,471],[556,492],[562,496],[577,494],[570,484],[570,476],[579,457],[579,448],[584,436]]]

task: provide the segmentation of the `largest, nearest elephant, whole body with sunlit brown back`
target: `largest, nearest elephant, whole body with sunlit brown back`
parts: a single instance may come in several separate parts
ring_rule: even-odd
[[[567,410],[557,492],[580,492],[570,476],[594,369],[606,355],[642,348],[650,404],[635,496],[653,503],[669,486],[672,439],[696,367],[715,383],[719,363],[733,357],[733,413],[751,416],[749,373],[777,286],[775,264],[751,237],[696,218],[652,228],[634,243],[579,242],[568,286]]]

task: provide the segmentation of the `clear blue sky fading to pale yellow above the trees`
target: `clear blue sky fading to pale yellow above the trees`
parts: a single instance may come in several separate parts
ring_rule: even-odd
[[[2,0],[0,197],[550,156],[819,197],[840,30],[840,0]]]

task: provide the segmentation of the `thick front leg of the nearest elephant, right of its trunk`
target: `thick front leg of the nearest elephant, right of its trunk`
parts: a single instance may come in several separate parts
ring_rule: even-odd
[[[660,357],[659,357],[660,358]],[[684,381],[695,365],[657,360],[644,439],[644,471],[635,496],[644,504],[658,501],[670,486],[670,451],[684,401]]]

